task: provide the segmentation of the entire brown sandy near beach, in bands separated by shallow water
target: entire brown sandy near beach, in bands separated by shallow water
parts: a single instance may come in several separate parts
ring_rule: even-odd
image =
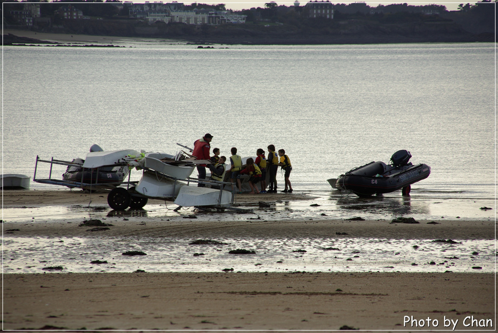
[[[293,196],[293,197],[289,197]],[[106,206],[106,195],[81,191],[3,191],[3,207]],[[312,197],[275,194],[265,202],[312,202]],[[238,203],[255,206],[257,195]],[[109,208],[107,208],[109,209]],[[107,217],[113,227],[89,235],[80,218],[3,217],[4,239],[15,237],[323,237],[338,230],[354,239],[494,239],[489,221],[438,224],[344,220],[248,220]],[[216,215],[216,216],[219,216]],[[35,221],[33,221],[35,220]],[[6,233],[6,230],[18,228]],[[137,238],[137,239],[138,239]],[[8,246],[7,246],[8,247]],[[5,261],[8,253],[4,255]],[[495,275],[406,272],[92,272],[3,274],[4,330],[490,330],[495,329]],[[491,326],[493,325],[493,326]]]

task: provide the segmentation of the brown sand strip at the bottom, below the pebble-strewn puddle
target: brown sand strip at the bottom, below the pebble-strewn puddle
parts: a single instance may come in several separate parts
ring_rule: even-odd
[[[436,331],[452,330],[450,321],[490,330],[489,321],[478,326],[495,325],[494,281],[450,273],[6,274],[3,329],[416,331],[429,318]],[[472,316],[477,324],[466,327]]]

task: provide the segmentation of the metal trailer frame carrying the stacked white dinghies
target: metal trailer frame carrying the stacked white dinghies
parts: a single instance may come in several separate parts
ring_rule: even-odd
[[[48,178],[36,178],[36,172],[37,172],[37,169],[38,169],[38,162],[50,163],[50,171],[49,171]],[[138,181],[130,181],[131,169],[128,172],[128,181],[110,182],[110,183],[94,183],[94,184],[92,184],[92,183],[84,183],[83,182],[83,175],[82,175],[82,181],[81,182],[66,181],[66,180],[62,180],[62,179],[53,179],[52,178],[52,167],[53,167],[53,164],[67,165],[67,166],[77,166],[77,167],[82,167],[83,168],[82,164],[73,163],[73,162],[69,162],[69,161],[57,160],[57,159],[54,159],[53,157],[50,160],[42,160],[37,155],[36,156],[36,164],[35,164],[35,168],[34,168],[33,181],[37,182],[37,183],[41,183],[41,184],[60,185],[60,186],[66,186],[66,187],[69,187],[69,188],[80,188],[80,189],[83,189],[83,190],[90,190],[90,191],[93,191],[93,190],[99,190],[99,191],[103,191],[103,192],[108,192],[109,191],[109,194],[108,194],[108,204],[110,202],[110,196],[111,195],[115,195],[115,193],[117,193],[117,192],[120,192],[121,195],[125,195],[124,192],[123,192],[123,191],[125,191],[127,193],[127,195],[130,196],[130,199],[131,198],[137,198],[137,200],[135,200],[135,201],[138,204],[135,205],[134,207],[132,207],[134,209],[139,209],[139,208],[142,208],[142,207],[144,207],[146,205],[147,200],[143,200],[143,199],[159,199],[159,200],[164,200],[164,201],[174,201],[174,199],[175,199],[174,197],[150,197],[150,196],[146,196],[144,194],[140,194],[140,193],[134,191],[134,187],[130,188],[130,185],[136,186],[138,184]],[[123,166],[123,165],[127,165],[127,164],[128,163],[124,161],[124,162],[116,162],[115,164],[111,164],[111,165],[103,165],[101,167]],[[97,169],[97,172],[99,170],[99,168],[83,168],[83,170],[84,169]],[[142,167],[142,169],[143,169],[143,173],[146,172],[146,171],[149,171],[149,172],[155,173],[158,177],[168,178],[168,179],[173,180],[174,181],[174,186],[176,186],[176,184],[177,184],[178,181],[186,182],[187,185],[189,185],[191,182],[192,183],[198,183],[198,184],[205,184],[205,185],[219,185],[220,186],[220,195],[218,197],[218,204],[214,205],[214,206],[205,206],[204,208],[200,207],[200,206],[199,207],[196,206],[196,208],[201,209],[201,210],[209,210],[211,208],[215,208],[217,210],[220,210],[220,209],[234,209],[234,210],[237,210],[235,208],[231,208],[234,205],[234,199],[235,199],[235,193],[236,193],[235,187],[232,187],[232,200],[231,200],[230,204],[225,204],[225,205],[221,205],[220,204],[221,198],[222,198],[222,194],[223,194],[223,187],[225,185],[232,185],[232,183],[221,182],[221,181],[216,181],[216,180],[201,180],[199,178],[194,178],[194,177],[188,177],[187,179],[178,179],[178,178],[168,176],[166,174],[163,174],[163,173],[161,173],[159,171],[156,171],[156,170],[153,170],[153,169],[149,169],[149,168],[145,168],[145,167]],[[143,176],[143,173],[142,173],[142,176]],[[92,180],[90,180],[90,182],[91,181]],[[120,186],[123,186],[123,185],[125,185],[126,188],[120,187]],[[175,192],[173,191],[173,193],[175,193]],[[140,199],[142,199],[142,200],[140,200]],[[123,208],[122,210],[125,210],[128,207],[129,207],[129,205],[127,207]],[[175,211],[178,211],[180,208],[181,208],[181,206],[179,206],[178,208],[176,208]]]

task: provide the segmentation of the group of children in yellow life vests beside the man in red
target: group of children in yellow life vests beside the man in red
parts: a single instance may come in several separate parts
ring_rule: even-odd
[[[249,186],[251,189],[251,192],[249,192],[249,194],[277,193],[276,174],[278,167],[280,166],[285,172],[285,189],[281,192],[292,193],[292,185],[290,184],[289,180],[290,172],[292,171],[292,165],[290,164],[289,156],[285,154],[284,149],[279,149],[278,153],[276,153],[275,146],[272,144],[270,144],[267,149],[267,158],[264,156],[264,150],[260,148],[256,151],[256,160],[254,161],[251,157],[249,157],[245,165],[243,165],[242,163],[242,157],[240,155],[237,155],[237,148],[233,147],[231,149],[231,168],[229,172],[231,173],[230,182],[232,183],[232,188],[235,181],[237,181],[239,193],[242,193],[241,174],[249,174]],[[214,163],[214,166],[208,166],[211,170],[211,179],[223,181],[223,179],[225,178],[225,163],[227,161],[227,158],[225,156],[219,156],[219,148],[214,148],[213,154],[214,156],[211,157],[211,161]],[[279,156],[280,160],[278,158]],[[266,191],[266,173],[269,174],[268,191]],[[258,191],[256,187],[258,182],[260,183],[261,191]]]

